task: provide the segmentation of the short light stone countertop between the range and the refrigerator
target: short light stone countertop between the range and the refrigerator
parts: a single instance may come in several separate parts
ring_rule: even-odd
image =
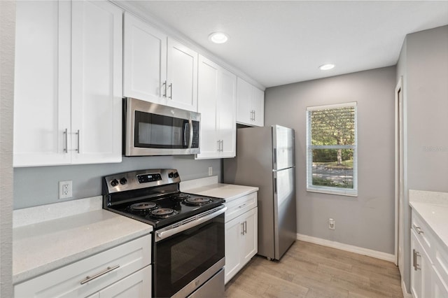
[[[217,176],[188,180],[181,183],[181,191],[225,199],[226,203],[257,192],[258,187],[218,183]]]

